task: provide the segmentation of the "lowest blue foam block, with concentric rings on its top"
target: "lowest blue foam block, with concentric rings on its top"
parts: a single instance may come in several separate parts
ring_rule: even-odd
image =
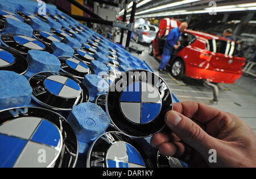
[[[67,120],[74,128],[77,139],[84,143],[96,139],[106,131],[110,124],[110,119],[105,111],[91,102],[74,106]]]

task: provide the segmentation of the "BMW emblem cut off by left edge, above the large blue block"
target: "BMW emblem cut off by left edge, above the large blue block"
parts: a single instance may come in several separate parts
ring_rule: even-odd
[[[28,69],[28,61],[19,53],[0,46],[0,70],[9,70],[24,74]]]

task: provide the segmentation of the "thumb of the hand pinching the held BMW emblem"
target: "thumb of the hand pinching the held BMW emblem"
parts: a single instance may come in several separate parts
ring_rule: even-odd
[[[174,134],[201,154],[208,151],[210,144],[214,143],[214,138],[199,125],[176,111],[168,111],[165,122]]]

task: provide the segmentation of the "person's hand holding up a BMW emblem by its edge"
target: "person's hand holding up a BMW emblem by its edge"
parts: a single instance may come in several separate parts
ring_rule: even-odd
[[[255,167],[256,136],[237,116],[197,102],[179,102],[165,115],[170,128],[152,136],[152,147],[177,159],[184,143],[195,152],[191,167]],[[181,143],[183,141],[184,143]],[[209,150],[216,150],[216,163],[210,163]]]

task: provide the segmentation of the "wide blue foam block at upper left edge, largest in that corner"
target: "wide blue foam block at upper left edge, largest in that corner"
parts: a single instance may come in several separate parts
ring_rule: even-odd
[[[5,33],[14,33],[19,35],[25,35],[32,37],[33,35],[33,29],[26,23],[20,22],[19,20],[14,20],[10,18],[5,19],[5,31],[2,32],[2,34]]]

